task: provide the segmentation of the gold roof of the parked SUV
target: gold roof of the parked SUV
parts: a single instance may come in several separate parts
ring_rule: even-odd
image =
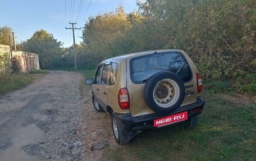
[[[184,53],[183,50],[178,50],[178,49],[148,50],[148,51],[143,51],[143,52],[135,52],[135,53],[123,54],[123,55],[120,55],[120,56],[112,57],[112,58],[106,59],[105,61],[101,62],[100,65],[110,64],[113,61],[120,62],[120,61],[124,61],[124,59],[129,60],[129,59],[134,58],[134,57],[145,56],[145,55],[148,55],[148,54],[166,53],[166,52],[181,52],[181,53]]]

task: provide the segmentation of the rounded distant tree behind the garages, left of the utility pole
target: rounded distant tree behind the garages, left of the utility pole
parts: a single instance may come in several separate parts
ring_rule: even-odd
[[[52,34],[45,30],[39,30],[22,44],[22,49],[39,54],[40,67],[51,68],[57,66],[56,62],[63,55],[61,45],[62,43],[54,39]]]

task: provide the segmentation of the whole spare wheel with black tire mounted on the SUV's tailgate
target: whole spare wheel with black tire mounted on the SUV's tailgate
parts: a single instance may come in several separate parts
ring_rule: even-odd
[[[170,113],[184,100],[185,86],[173,72],[158,72],[147,81],[144,98],[148,107],[157,113]]]

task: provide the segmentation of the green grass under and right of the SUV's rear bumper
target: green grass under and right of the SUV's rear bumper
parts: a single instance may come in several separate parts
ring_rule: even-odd
[[[256,104],[237,105],[216,95],[207,100],[198,126],[144,131],[102,160],[255,160]]]

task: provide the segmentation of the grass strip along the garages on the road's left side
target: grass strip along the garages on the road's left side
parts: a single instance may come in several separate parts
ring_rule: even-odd
[[[48,72],[43,70],[29,73],[17,73],[13,74],[8,80],[0,80],[0,95],[6,94],[13,90],[21,89],[46,73]]]

